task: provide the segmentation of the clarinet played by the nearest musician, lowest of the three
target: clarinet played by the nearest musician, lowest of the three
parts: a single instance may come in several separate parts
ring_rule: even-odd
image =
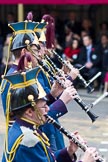
[[[59,123],[57,123],[52,117],[45,115],[47,122],[53,124],[61,133],[63,133],[68,139],[71,139],[79,148],[81,148],[84,152],[87,150],[87,145],[81,143],[74,135],[74,133],[70,133],[64,127],[62,127]],[[104,159],[100,157],[100,159],[96,160],[96,162],[104,162]]]

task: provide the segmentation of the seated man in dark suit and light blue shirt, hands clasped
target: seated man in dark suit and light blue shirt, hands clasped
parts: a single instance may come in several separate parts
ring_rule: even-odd
[[[87,79],[91,79],[100,70],[101,55],[89,35],[83,37],[83,45],[79,54],[79,63],[81,66],[85,65],[85,68],[81,70],[81,74]]]

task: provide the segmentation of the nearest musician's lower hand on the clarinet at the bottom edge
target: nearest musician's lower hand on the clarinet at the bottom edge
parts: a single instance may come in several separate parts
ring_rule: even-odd
[[[89,147],[87,148],[86,152],[84,153],[81,161],[83,162],[95,162],[96,160],[99,159],[98,152],[96,151],[96,148],[94,147]]]

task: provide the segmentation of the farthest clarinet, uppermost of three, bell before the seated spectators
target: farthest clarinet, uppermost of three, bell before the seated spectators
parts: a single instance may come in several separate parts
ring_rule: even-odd
[[[50,51],[49,51],[49,52],[50,52]],[[60,62],[62,62],[62,64],[64,64],[69,70],[71,70],[72,65],[69,65],[69,64],[67,63],[67,61],[63,60],[63,59],[57,54],[57,52],[55,52],[54,50],[53,50],[52,52],[55,54],[55,56],[57,56],[58,60],[59,60]],[[88,87],[88,89],[89,89],[90,92],[93,92],[93,91],[94,91],[94,88],[91,87],[90,85],[88,85],[88,83],[87,83],[86,80],[82,77],[81,74],[78,74],[78,78],[82,81],[82,83],[84,84],[85,88]]]

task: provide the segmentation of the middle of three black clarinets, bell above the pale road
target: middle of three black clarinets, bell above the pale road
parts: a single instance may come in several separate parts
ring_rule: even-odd
[[[54,75],[54,73],[48,68],[45,60],[41,60],[41,61],[38,60],[38,62],[39,62],[39,65],[44,69],[45,72],[47,72],[54,80],[56,80],[64,89],[66,88],[63,85],[62,81],[60,79],[58,79],[57,75]],[[57,71],[57,69],[56,69],[56,71]],[[66,78],[64,78],[64,79],[66,79]],[[90,117],[92,122],[94,122],[98,118],[97,115],[95,115],[93,112],[90,111],[91,105],[86,105],[86,103],[81,99],[81,97],[79,95],[74,100],[78,103],[78,105],[80,105],[82,110],[84,110],[86,112],[86,114]]]

